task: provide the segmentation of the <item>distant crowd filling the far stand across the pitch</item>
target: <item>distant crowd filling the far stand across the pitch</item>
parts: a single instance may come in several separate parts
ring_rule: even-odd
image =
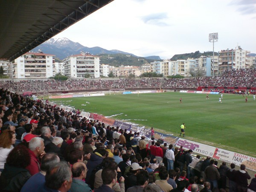
[[[1,81],[1,87],[8,87],[18,93],[23,92],[54,92],[69,90],[109,90],[109,89],[140,89],[140,88],[197,88],[199,86],[217,87],[256,87],[256,70],[226,70],[219,76],[196,77],[189,79],[118,79],[118,80],[27,80]]]

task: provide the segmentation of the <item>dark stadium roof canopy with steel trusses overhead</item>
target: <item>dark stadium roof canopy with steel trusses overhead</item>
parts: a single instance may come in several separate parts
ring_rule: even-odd
[[[9,61],[113,0],[1,0],[0,59]]]

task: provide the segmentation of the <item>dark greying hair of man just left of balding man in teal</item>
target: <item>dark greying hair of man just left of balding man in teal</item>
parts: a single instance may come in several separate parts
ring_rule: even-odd
[[[45,175],[45,185],[50,189],[59,189],[66,180],[72,176],[70,165],[61,161],[53,164]]]

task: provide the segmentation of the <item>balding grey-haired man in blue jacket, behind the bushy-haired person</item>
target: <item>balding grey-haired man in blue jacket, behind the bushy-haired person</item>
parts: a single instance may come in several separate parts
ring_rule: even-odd
[[[20,192],[28,192],[28,191],[38,191],[40,187],[44,186],[45,183],[45,175],[47,170],[49,170],[50,166],[54,163],[59,163],[60,158],[58,155],[54,153],[47,153],[42,157],[41,160],[41,171],[27,180],[25,185],[23,185]]]

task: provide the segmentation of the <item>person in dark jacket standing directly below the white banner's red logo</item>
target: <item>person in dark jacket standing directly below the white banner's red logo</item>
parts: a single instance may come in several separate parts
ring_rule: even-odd
[[[210,161],[210,165],[207,166],[204,170],[207,181],[211,183],[212,188],[218,187],[218,180],[220,179],[220,174],[218,169],[213,166],[214,160]]]

